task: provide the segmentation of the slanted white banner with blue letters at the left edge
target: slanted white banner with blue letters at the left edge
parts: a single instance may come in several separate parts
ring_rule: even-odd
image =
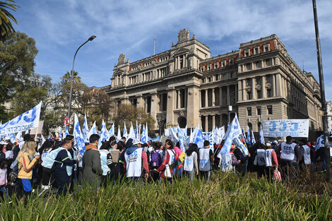
[[[28,112],[20,114],[20,116],[8,121],[6,124],[2,124],[0,126],[0,136],[10,133],[18,133],[20,131],[26,131],[37,127],[39,124],[41,107],[42,102]]]

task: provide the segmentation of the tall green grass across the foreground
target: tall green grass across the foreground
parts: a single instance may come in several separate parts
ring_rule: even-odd
[[[100,191],[0,205],[0,220],[332,220],[332,189],[321,193],[215,172],[208,183],[121,184]],[[312,187],[310,187],[312,188]]]

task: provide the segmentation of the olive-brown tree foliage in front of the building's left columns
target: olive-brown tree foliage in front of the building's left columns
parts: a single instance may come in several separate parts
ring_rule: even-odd
[[[148,124],[149,133],[154,133],[155,129],[155,119],[153,117],[148,115],[143,108],[136,108],[129,104],[121,104],[119,106],[117,114],[113,117],[113,121],[115,125],[120,126],[120,129],[124,128],[124,122],[126,122],[127,130],[129,130],[131,122],[136,124],[136,121],[138,124],[142,124],[142,126],[143,124]],[[117,129],[115,131],[117,133]]]

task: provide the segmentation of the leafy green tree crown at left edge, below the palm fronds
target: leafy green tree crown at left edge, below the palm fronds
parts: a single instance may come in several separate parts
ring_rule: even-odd
[[[35,40],[22,32],[0,42],[0,102],[29,88],[37,53]]]

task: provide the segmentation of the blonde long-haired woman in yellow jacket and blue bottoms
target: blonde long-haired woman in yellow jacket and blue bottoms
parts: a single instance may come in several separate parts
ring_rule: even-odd
[[[18,197],[22,197],[23,193],[28,198],[32,191],[32,168],[40,159],[40,155],[36,155],[36,142],[25,141],[22,150],[18,153]],[[25,199],[25,204],[27,199]]]

